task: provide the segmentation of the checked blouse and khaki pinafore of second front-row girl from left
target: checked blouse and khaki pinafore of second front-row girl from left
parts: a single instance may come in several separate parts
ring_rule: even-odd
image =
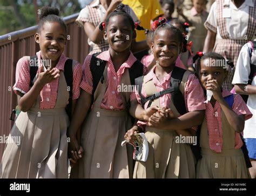
[[[121,146],[126,131],[132,126],[130,114],[125,108],[130,101],[131,92],[119,92],[118,85],[131,85],[129,68],[137,59],[130,53],[129,58],[116,72],[109,50],[100,53],[97,58],[107,62],[103,72],[104,80],[96,88],[92,109],[82,125],[83,158],[71,169],[70,177],[131,178],[132,147]],[[80,87],[92,94],[90,62],[89,55],[83,65]]]

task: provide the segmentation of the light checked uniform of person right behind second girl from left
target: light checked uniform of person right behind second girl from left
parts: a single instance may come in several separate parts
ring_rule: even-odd
[[[124,10],[132,17],[134,23],[139,22],[138,17],[135,15],[129,5],[125,5]],[[96,0],[92,4],[86,5],[85,8],[80,11],[79,16],[76,19],[76,23],[81,28],[84,27],[85,22],[91,23],[95,26],[95,28],[98,28],[98,25],[103,22],[102,18],[104,17],[105,13],[106,10],[104,6],[100,4],[99,0]],[[88,38],[87,42],[92,48],[89,55],[109,50],[109,42],[103,37],[98,44],[93,43],[90,38]]]

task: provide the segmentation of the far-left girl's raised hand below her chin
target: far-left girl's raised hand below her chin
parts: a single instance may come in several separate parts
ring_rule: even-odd
[[[53,69],[47,69],[44,72],[44,67],[41,66],[40,73],[38,74],[37,81],[43,85],[52,82],[52,80],[59,77],[59,70],[55,67]]]

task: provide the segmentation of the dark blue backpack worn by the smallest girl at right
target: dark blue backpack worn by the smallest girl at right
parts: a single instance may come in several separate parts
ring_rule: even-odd
[[[224,97],[224,99],[227,102],[227,104],[230,106],[230,108],[232,109],[233,103],[234,103],[234,94],[230,94],[229,96]],[[200,141],[200,132],[201,132],[201,125],[198,126],[198,131],[197,131],[198,141]],[[242,137],[241,133],[240,133],[240,137],[242,139],[241,150],[242,150],[242,153],[244,154],[246,167],[250,168],[250,167],[252,167],[252,164],[251,164],[250,158],[248,156],[248,150],[247,150],[247,147],[246,147],[246,144],[245,144],[245,139],[244,139],[244,137]],[[199,147],[199,150],[201,149],[199,143],[198,143],[197,147]]]

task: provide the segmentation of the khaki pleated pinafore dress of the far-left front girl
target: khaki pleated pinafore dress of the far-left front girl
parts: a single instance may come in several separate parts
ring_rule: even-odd
[[[9,137],[19,138],[20,144],[6,144],[1,178],[68,178],[67,87],[60,71],[54,109],[40,109],[39,95],[28,112],[19,114]]]

